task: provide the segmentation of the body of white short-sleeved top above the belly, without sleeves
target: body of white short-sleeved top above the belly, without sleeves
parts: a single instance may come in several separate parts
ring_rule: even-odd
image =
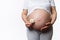
[[[43,9],[50,12],[50,0],[29,0],[28,1],[28,15],[35,9]]]

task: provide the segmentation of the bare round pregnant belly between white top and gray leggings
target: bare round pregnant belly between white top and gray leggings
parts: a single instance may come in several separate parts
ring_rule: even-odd
[[[34,19],[35,23],[33,24],[33,29],[40,30],[45,23],[51,21],[50,13],[42,9],[36,9],[28,15],[28,20]]]

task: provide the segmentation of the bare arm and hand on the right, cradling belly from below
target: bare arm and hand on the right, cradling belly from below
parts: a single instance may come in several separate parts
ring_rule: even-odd
[[[54,22],[56,21],[56,19],[57,19],[56,8],[55,8],[55,7],[51,7],[51,12],[52,12],[52,14],[51,14],[51,18],[52,18],[51,22],[46,23],[46,26],[43,27],[43,28],[41,28],[41,30],[45,30],[45,29],[47,29],[48,26],[53,25]]]

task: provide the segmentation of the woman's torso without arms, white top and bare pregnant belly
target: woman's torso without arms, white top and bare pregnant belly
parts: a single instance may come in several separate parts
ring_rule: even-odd
[[[39,30],[46,22],[51,21],[49,0],[31,0],[28,7],[28,20],[35,20],[34,29]]]

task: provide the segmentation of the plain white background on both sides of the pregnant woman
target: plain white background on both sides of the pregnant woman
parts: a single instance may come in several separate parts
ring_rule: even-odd
[[[27,40],[21,19],[24,0],[0,0],[0,40]],[[60,0],[55,0],[57,20],[52,40],[60,40]]]

